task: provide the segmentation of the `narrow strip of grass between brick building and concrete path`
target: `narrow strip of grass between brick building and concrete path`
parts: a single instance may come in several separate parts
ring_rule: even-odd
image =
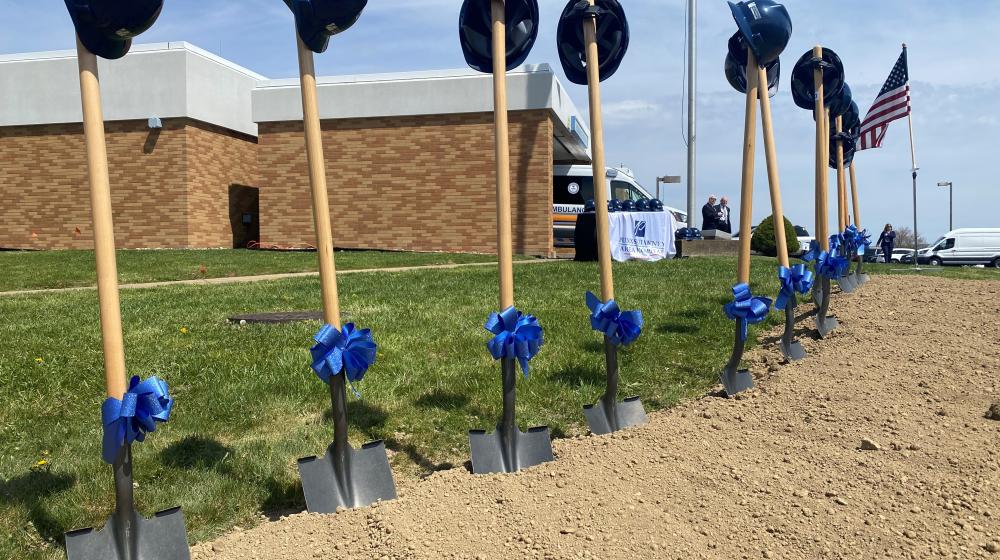
[[[338,251],[339,270],[429,264],[493,262],[492,255]],[[204,272],[202,272],[204,267]],[[93,251],[0,252],[0,292],[72,288],[96,284]],[[168,249],[118,251],[123,284],[253,276],[317,270],[316,253],[280,253],[246,249]]]

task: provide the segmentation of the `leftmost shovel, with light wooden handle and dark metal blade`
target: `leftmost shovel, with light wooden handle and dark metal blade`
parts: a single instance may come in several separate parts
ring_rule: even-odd
[[[94,221],[97,260],[97,294],[104,341],[104,373],[107,394],[121,399],[126,391],[125,346],[118,297],[118,267],[115,262],[111,185],[108,179],[107,145],[101,112],[101,85],[97,57],[77,38],[83,129],[87,144],[90,202]],[[132,491],[132,449],[122,447],[114,465],[115,512],[99,531],[81,529],[66,533],[69,560],[188,560],[187,533],[180,508],[145,519],[135,509]]]

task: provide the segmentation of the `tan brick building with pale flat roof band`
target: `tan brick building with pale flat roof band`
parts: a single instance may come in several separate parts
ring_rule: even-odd
[[[184,43],[101,64],[119,247],[313,242],[297,80]],[[0,58],[0,91],[20,99],[0,108],[0,248],[91,246],[75,66]],[[515,250],[550,255],[552,167],[589,161],[586,135],[547,66],[509,81]],[[495,250],[491,87],[471,71],[319,80],[338,247]]]

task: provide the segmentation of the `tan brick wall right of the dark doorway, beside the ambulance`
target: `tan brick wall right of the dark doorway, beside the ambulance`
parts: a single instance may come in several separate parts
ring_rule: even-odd
[[[261,237],[313,243],[301,122],[260,125]],[[552,252],[547,111],[510,113],[514,250]],[[334,243],[496,252],[492,113],[323,122]]]

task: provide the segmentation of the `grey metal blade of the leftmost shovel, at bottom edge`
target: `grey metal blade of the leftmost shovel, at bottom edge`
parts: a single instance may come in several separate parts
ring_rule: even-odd
[[[69,560],[190,560],[181,508],[161,511],[152,519],[143,518],[135,509],[129,514],[131,523],[119,523],[116,516],[112,516],[100,531],[91,528],[66,533],[66,557]],[[119,539],[122,532],[126,534]]]

